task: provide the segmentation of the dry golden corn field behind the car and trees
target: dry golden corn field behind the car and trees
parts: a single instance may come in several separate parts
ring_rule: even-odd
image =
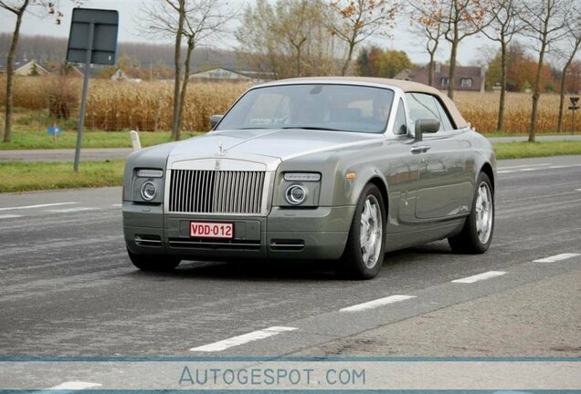
[[[0,78],[5,86],[5,78]],[[185,131],[209,130],[209,117],[224,113],[249,88],[245,83],[190,82],[185,101]],[[67,98],[78,116],[81,80],[79,78],[16,78],[15,107],[48,109],[58,97]],[[99,130],[171,130],[174,85],[172,82],[90,81],[85,125]],[[481,132],[496,130],[498,92],[461,92],[455,95],[456,105],[465,119]],[[0,91],[0,104],[5,104],[5,88]],[[505,131],[526,133],[529,128],[532,99],[525,93],[508,93],[505,109]],[[539,104],[537,131],[554,132],[557,125],[559,97],[544,94]],[[568,105],[568,99],[565,106]],[[578,116],[581,118],[581,116]],[[565,130],[569,130],[570,111],[565,107]],[[576,127],[578,129],[578,126]]]

